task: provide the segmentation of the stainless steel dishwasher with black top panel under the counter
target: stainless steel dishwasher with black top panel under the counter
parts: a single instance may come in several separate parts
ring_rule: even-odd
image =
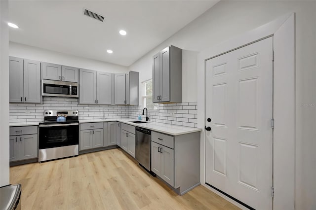
[[[135,158],[148,171],[151,169],[151,135],[151,130],[136,127]]]

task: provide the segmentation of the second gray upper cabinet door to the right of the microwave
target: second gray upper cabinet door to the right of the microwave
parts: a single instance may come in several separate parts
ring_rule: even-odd
[[[97,104],[112,103],[112,74],[97,72]]]

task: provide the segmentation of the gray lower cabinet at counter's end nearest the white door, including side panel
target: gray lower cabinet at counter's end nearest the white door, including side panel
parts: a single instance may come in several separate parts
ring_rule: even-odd
[[[152,131],[151,170],[183,195],[200,184],[200,133],[178,136]]]

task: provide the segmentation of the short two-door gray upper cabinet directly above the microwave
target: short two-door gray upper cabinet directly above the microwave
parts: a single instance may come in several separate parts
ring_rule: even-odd
[[[78,82],[78,69],[58,64],[41,63],[42,79]]]

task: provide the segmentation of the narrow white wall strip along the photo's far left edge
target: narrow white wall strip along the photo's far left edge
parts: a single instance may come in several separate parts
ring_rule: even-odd
[[[9,184],[8,0],[0,0],[0,186]]]

